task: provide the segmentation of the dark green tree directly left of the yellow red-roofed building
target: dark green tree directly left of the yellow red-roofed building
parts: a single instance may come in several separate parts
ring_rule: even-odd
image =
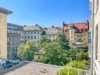
[[[60,34],[57,36],[57,38],[56,38],[55,41],[56,41],[57,43],[59,43],[63,49],[69,49],[69,46],[68,46],[68,45],[69,45],[69,42],[68,42],[68,40],[66,39],[64,33],[60,33]]]

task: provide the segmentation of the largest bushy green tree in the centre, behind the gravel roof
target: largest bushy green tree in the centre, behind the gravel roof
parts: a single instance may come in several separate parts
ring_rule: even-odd
[[[64,65],[68,63],[66,50],[63,50],[61,45],[57,42],[48,43],[45,48],[45,53],[42,55],[40,62],[54,64],[54,65]]]

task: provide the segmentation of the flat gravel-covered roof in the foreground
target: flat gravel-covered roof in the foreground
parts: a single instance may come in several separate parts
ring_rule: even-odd
[[[31,62],[4,75],[40,75],[43,70],[45,70],[48,75],[56,75],[56,72],[61,68],[62,66]]]

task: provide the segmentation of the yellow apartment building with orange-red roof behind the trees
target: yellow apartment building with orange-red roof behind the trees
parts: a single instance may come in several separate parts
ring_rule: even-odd
[[[64,24],[64,33],[69,45],[88,45],[89,22]]]

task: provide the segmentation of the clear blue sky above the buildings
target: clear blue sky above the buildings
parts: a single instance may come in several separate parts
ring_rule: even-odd
[[[0,7],[13,11],[8,22],[18,25],[61,26],[63,21],[85,22],[91,15],[89,0],[0,0]]]

